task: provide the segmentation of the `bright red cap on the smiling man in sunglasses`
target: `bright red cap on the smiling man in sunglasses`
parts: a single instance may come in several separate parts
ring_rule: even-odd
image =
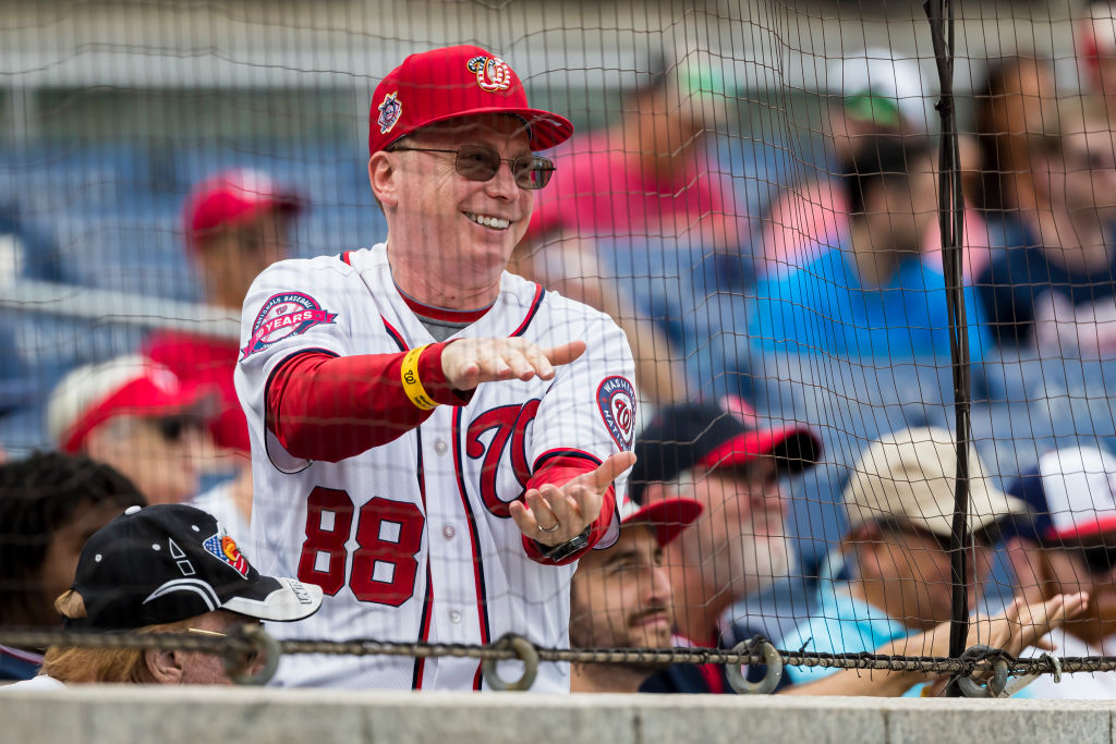
[[[411,55],[372,96],[368,154],[424,126],[478,114],[512,114],[528,126],[532,151],[569,139],[569,119],[531,108],[519,76],[490,51],[463,45]]]

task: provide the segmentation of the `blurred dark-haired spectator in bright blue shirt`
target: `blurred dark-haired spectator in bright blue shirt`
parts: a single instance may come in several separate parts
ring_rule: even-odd
[[[910,360],[950,354],[945,278],[921,255],[937,219],[925,139],[867,141],[846,164],[850,221],[840,242],[756,288],[749,332],[764,350]],[[965,293],[970,357],[989,346]]]

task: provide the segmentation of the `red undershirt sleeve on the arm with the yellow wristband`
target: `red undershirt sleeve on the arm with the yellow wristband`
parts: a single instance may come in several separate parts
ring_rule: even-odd
[[[426,347],[419,357],[419,379],[435,403],[463,406],[472,390],[450,387],[442,373],[445,347]],[[405,355],[291,355],[268,380],[268,429],[291,455],[330,463],[398,438],[432,413],[415,406],[403,390]]]

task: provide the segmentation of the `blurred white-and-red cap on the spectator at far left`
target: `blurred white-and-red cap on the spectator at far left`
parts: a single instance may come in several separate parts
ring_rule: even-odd
[[[163,365],[129,355],[78,367],[50,394],[47,431],[62,452],[80,452],[95,427],[115,416],[166,416],[200,406],[208,390],[183,386]]]

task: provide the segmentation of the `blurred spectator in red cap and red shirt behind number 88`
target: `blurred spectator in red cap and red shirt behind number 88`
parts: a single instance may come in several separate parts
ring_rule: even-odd
[[[210,305],[240,316],[257,274],[289,258],[291,224],[304,204],[294,189],[250,170],[227,171],[194,187],[183,211],[186,249]],[[237,475],[202,494],[196,504],[215,513],[235,534],[247,535],[252,468],[248,422],[232,384],[239,351],[234,338],[182,331],[157,332],[144,344],[144,354],[184,384],[209,386],[219,393],[220,408],[209,428],[218,447],[234,457]]]

